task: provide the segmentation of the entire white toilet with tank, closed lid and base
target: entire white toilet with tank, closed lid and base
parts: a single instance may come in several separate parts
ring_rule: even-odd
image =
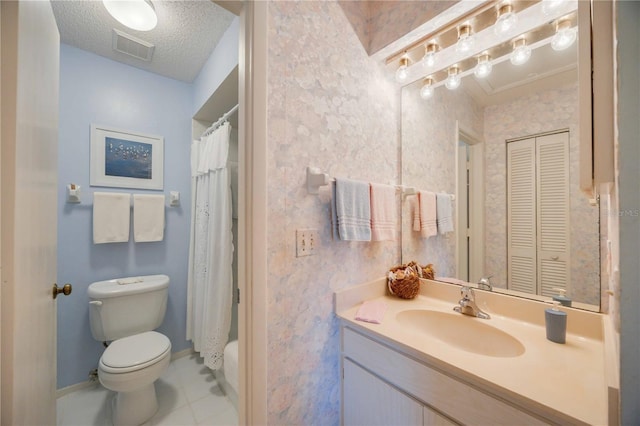
[[[154,382],[171,359],[167,336],[152,331],[167,308],[169,277],[148,275],[89,286],[89,322],[96,340],[111,342],[98,364],[100,383],[117,392],[113,423],[140,425],[158,410]]]

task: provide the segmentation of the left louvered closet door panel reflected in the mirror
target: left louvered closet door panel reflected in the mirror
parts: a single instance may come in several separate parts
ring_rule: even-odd
[[[507,144],[507,257],[511,290],[537,293],[535,139]]]

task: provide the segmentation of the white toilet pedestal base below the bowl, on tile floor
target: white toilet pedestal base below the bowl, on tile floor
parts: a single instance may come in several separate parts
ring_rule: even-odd
[[[153,383],[131,392],[118,392],[113,399],[114,426],[138,426],[158,411],[158,398]]]

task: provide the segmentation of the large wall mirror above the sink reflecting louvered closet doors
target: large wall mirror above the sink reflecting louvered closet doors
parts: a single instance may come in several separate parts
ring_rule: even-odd
[[[576,28],[578,11],[567,18]],[[538,40],[553,36],[548,24]],[[434,264],[436,279],[490,277],[494,291],[542,299],[566,291],[573,306],[599,310],[599,206],[578,182],[579,43],[557,51],[548,41],[522,65],[500,53],[513,41],[496,46],[490,56],[506,60],[484,78],[461,73],[455,90],[434,84],[446,74],[403,87],[403,185],[451,194],[455,229],[426,238],[418,197],[404,197],[402,258]]]

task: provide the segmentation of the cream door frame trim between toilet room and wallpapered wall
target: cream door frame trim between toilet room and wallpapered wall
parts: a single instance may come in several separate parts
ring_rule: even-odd
[[[239,43],[239,424],[267,424],[266,2],[243,2]],[[242,220],[244,217],[244,220]]]

